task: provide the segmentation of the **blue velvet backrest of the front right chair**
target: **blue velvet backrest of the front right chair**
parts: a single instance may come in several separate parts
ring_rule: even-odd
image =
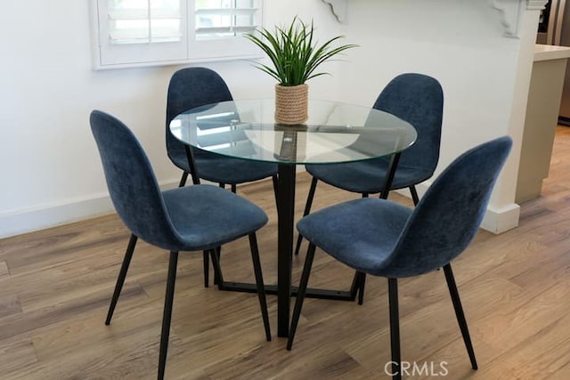
[[[456,158],[419,201],[381,275],[434,271],[460,255],[476,236],[512,140],[503,136]]]

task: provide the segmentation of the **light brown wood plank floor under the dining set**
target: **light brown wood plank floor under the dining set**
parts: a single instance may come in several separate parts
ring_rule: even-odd
[[[454,263],[479,370],[469,366],[444,275],[401,281],[403,360],[409,378],[570,378],[570,128],[559,127],[542,197],[520,226],[481,231]],[[298,175],[297,208],[309,179]],[[270,182],[241,186],[270,222],[259,232],[265,281],[276,275]],[[355,198],[321,184],[315,209]],[[391,196],[410,205],[408,198]],[[129,233],[115,215],[0,240],[0,378],[156,378],[167,253],[139,243],[109,327],[103,324]],[[253,280],[247,239],[224,247],[228,279]],[[304,246],[305,247],[305,246]],[[297,283],[304,255],[294,260]],[[365,301],[307,299],[292,352],[265,342],[255,295],[202,286],[201,255],[179,260],[167,360],[170,379],[381,379],[390,360],[387,281]],[[348,287],[352,271],[317,253],[312,286]],[[435,377],[435,376],[431,376]]]

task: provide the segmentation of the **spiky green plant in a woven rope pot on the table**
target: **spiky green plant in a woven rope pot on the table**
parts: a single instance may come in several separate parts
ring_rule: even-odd
[[[246,38],[259,46],[273,63],[256,65],[277,79],[275,85],[275,121],[281,124],[302,124],[308,118],[308,85],[306,81],[326,72],[315,72],[324,61],[356,44],[333,44],[343,36],[330,38],[323,44],[314,39],[314,24],[306,24],[295,17],[289,27],[257,30],[259,36],[248,33]]]

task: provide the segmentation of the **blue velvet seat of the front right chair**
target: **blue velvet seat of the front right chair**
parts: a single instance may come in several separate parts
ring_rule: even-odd
[[[378,275],[389,263],[411,212],[385,199],[355,199],[305,216],[297,230],[338,261]]]

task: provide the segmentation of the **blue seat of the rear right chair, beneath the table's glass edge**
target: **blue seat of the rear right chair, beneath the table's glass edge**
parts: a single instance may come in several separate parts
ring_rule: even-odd
[[[307,165],[306,171],[318,180],[339,189],[358,193],[376,194],[384,186],[389,162],[386,159],[372,159],[336,165]],[[431,177],[427,169],[398,165],[391,190],[403,189]]]

